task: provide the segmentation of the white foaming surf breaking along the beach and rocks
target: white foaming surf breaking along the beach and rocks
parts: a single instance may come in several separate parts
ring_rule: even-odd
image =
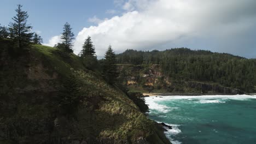
[[[150,112],[157,113],[159,117],[166,117],[166,115],[161,115],[161,113],[167,113],[174,109],[180,109],[177,106],[177,102],[180,103],[201,103],[201,104],[211,104],[211,103],[226,103],[228,100],[251,100],[256,99],[256,95],[200,95],[200,96],[159,96],[159,97],[146,97],[145,102],[149,106]],[[166,103],[165,103],[166,102]],[[168,106],[170,104],[173,106]],[[165,105],[166,104],[166,105]],[[152,111],[153,110],[153,111]],[[149,113],[150,113],[149,112]],[[160,122],[159,122],[160,123]],[[182,142],[173,139],[175,135],[181,134],[182,131],[179,129],[180,125],[168,124],[172,126],[172,129],[166,128],[166,137],[174,144],[181,144]],[[200,131],[201,132],[201,131]],[[218,131],[215,131],[218,133]]]

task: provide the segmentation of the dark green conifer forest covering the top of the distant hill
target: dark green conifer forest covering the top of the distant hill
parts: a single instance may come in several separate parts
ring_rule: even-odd
[[[162,73],[172,81],[216,82],[226,87],[255,91],[256,59],[229,53],[187,48],[165,51],[126,50],[117,55],[123,64],[160,64]]]

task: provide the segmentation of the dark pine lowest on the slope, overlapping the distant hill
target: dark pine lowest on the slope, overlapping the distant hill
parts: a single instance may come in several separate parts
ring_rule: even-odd
[[[116,56],[113,52],[112,47],[109,45],[107,52],[105,53],[103,63],[103,76],[107,82],[110,84],[114,84],[117,80],[118,73],[117,73],[117,65],[116,63]]]

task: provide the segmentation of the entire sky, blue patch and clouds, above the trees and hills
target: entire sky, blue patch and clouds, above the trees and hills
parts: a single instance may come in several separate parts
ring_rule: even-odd
[[[8,26],[17,4],[44,45],[60,42],[68,22],[76,54],[90,35],[98,58],[108,45],[116,53],[188,47],[256,58],[255,0],[1,0],[1,25]]]

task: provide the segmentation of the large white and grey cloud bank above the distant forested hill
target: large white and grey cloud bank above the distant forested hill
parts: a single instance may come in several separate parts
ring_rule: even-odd
[[[75,53],[90,35],[100,57],[109,44],[117,53],[184,46],[256,57],[254,0],[115,1],[124,13],[83,28],[75,38]]]

